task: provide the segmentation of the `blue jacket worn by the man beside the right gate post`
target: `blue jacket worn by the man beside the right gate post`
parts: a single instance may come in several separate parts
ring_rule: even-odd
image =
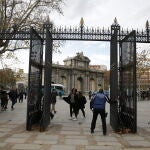
[[[90,109],[105,109],[108,98],[103,93],[97,93],[90,102]]]

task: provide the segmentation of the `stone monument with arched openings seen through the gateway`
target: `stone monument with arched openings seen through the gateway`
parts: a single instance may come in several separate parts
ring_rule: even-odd
[[[64,60],[64,65],[52,65],[52,83],[59,83],[65,86],[68,94],[72,88],[77,88],[87,94],[91,91],[98,91],[104,87],[104,73],[97,68],[91,68],[90,59],[77,53],[75,57]]]

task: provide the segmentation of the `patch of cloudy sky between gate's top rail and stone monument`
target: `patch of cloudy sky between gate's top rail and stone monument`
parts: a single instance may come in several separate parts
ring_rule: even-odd
[[[66,42],[66,46],[61,51],[61,54],[53,54],[53,62],[63,64],[63,60],[67,57],[73,57],[77,52],[83,52],[91,60],[90,64],[106,65],[109,69],[110,53],[107,42]]]

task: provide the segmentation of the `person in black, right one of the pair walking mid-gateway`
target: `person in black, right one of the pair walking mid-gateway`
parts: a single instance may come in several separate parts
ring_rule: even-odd
[[[82,111],[83,117],[85,118],[85,104],[86,104],[86,97],[82,94],[82,92],[78,92],[78,112],[79,110]]]

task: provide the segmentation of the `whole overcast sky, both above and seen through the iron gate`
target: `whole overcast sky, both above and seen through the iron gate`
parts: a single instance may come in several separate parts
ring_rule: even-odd
[[[55,26],[79,26],[83,17],[85,27],[108,28],[116,17],[123,28],[145,29],[146,21],[150,21],[150,0],[66,0],[63,12],[63,15],[55,12],[50,15]],[[60,50],[60,54],[53,54],[53,62],[63,64],[65,58],[83,52],[91,64],[106,65],[109,69],[109,42],[66,41]],[[27,54],[19,52],[18,55],[20,58],[26,56],[20,67],[24,66],[25,72],[28,72]]]

